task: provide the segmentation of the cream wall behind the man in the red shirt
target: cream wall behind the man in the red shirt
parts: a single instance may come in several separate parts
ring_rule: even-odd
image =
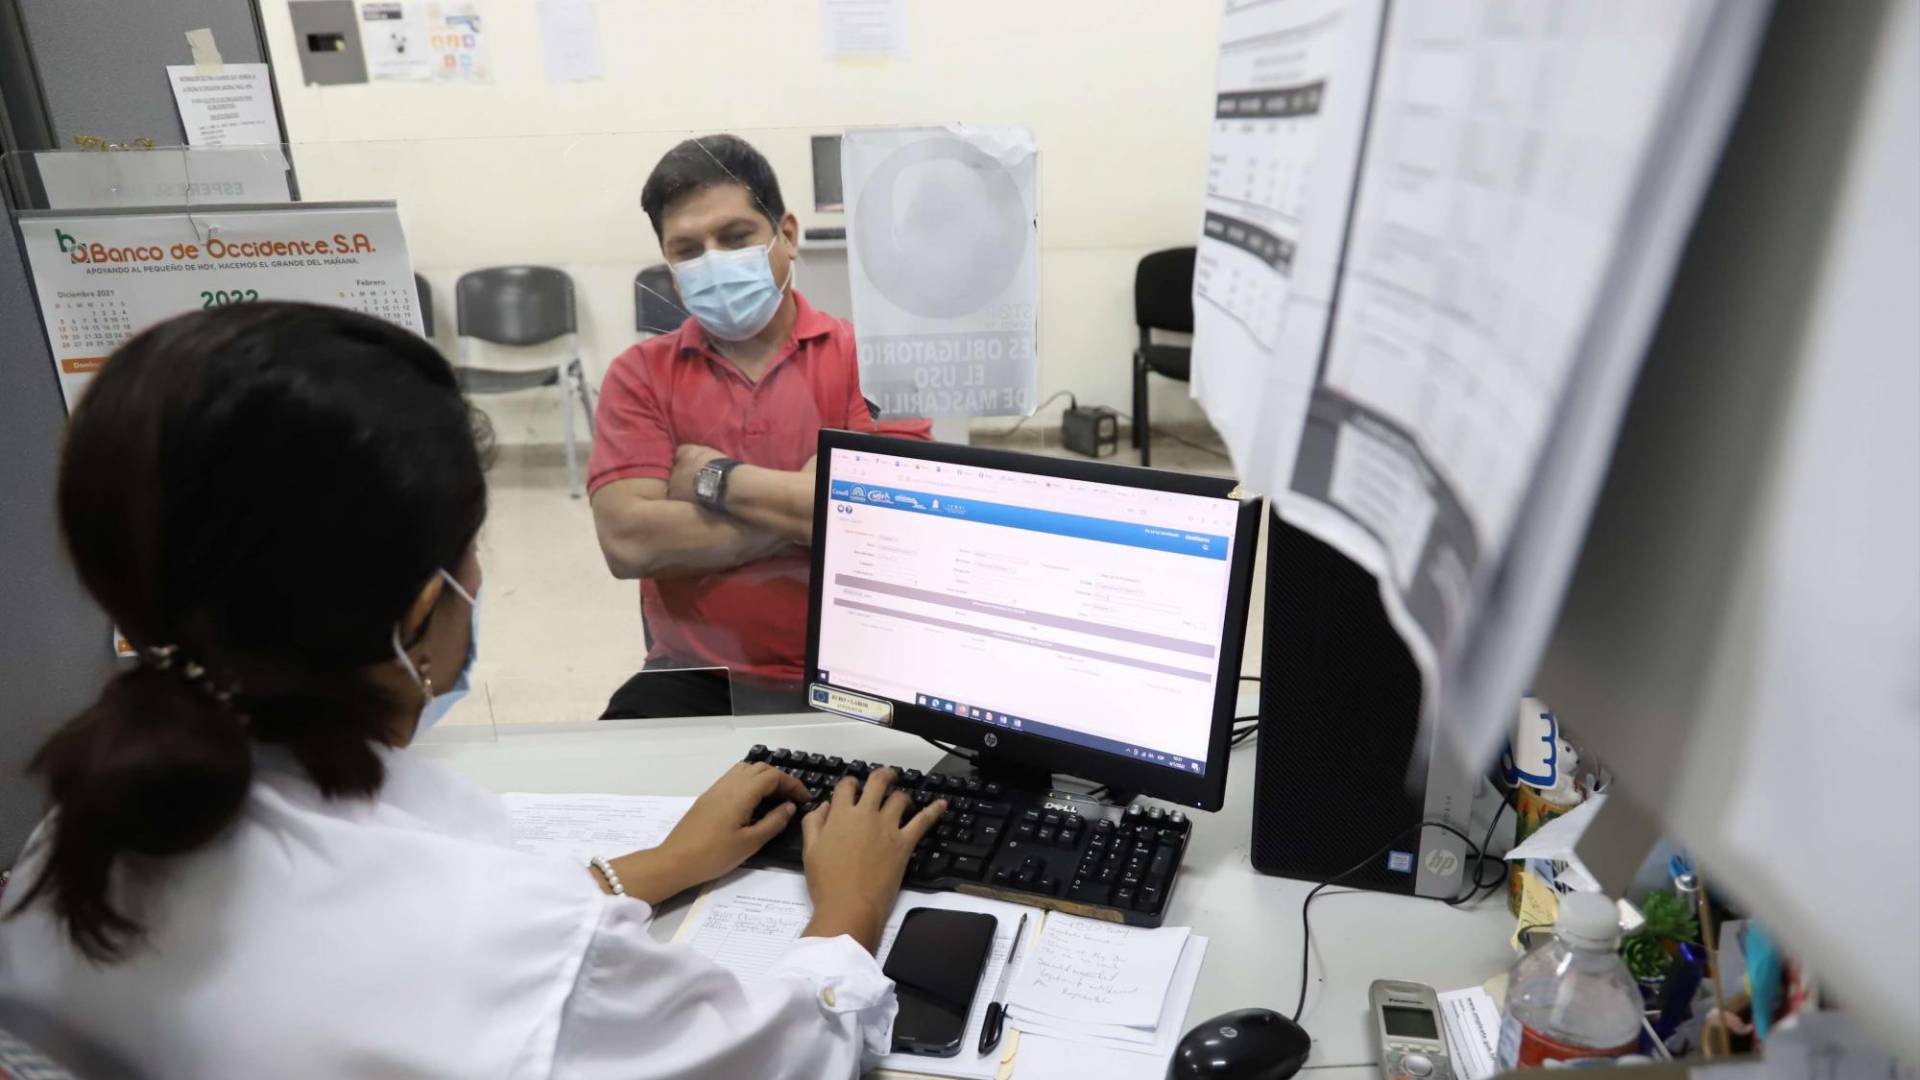
[[[814,0],[599,0],[607,77],[547,83],[534,0],[484,0],[493,81],[303,86],[284,0],[263,4],[305,198],[396,198],[451,350],[451,286],[507,261],[580,286],[589,373],[634,340],[659,261],[639,186],[676,140],[735,131],[812,211],[808,136],[860,125],[1025,125],[1041,144],[1041,392],[1129,409],[1133,263],[1190,244],[1206,184],[1212,0],[916,0],[912,60],[822,58]],[[806,288],[806,265],[801,288]],[[543,400],[490,411],[557,442]],[[1198,415],[1158,380],[1156,423]]]

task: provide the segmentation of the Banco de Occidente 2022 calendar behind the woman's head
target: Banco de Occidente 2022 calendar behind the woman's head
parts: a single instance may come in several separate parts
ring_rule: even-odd
[[[27,211],[19,229],[69,413],[121,342],[186,311],[305,300],[422,331],[392,202]]]

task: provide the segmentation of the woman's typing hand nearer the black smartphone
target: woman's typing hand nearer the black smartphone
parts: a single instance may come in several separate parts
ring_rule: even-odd
[[[847,934],[870,953],[879,949],[879,932],[893,913],[893,897],[900,894],[906,859],[947,813],[947,799],[937,799],[906,817],[912,799],[904,790],[887,792],[893,778],[893,769],[876,769],[862,788],[845,776],[833,786],[833,798],[801,821],[806,892],[814,899],[814,919],[804,936]]]

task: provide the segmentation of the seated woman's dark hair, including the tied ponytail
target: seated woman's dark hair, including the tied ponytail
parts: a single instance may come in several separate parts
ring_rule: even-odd
[[[445,357],[355,311],[236,304],[121,346],[67,427],[60,523],[140,667],[35,755],[52,813],[8,915],[44,901],[123,957],[146,861],[234,824],[255,742],[328,798],[376,792],[411,730],[378,671],[486,519],[484,448]]]

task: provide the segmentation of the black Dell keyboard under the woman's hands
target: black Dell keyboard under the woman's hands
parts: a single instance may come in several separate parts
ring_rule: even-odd
[[[755,746],[806,784],[814,809],[841,776],[866,778],[881,763],[843,761],[801,749]],[[906,884],[1031,903],[1133,926],[1160,926],[1179,876],[1192,822],[1181,811],[1116,807],[1066,792],[1008,790],[977,776],[897,769],[914,809],[947,799],[947,817],[914,847]],[[770,807],[762,807],[770,809]],[[801,815],[751,859],[801,867]]]

